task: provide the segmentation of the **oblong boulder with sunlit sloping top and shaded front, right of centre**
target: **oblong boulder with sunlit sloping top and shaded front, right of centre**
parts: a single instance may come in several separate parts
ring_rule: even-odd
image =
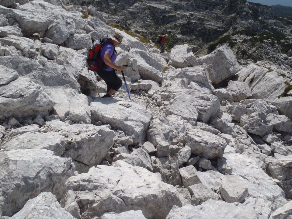
[[[192,149],[194,155],[215,159],[222,157],[227,143],[223,138],[210,132],[187,127],[186,146]]]

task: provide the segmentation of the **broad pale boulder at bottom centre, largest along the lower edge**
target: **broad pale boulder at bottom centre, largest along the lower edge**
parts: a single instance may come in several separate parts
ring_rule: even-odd
[[[85,187],[84,187],[85,186]],[[123,161],[99,165],[88,173],[71,177],[65,184],[64,206],[77,202],[81,217],[101,217],[106,212],[141,210],[149,219],[162,219],[184,199],[174,186],[157,174]]]

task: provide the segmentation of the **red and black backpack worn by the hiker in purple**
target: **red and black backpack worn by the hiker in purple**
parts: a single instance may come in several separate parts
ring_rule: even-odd
[[[104,43],[107,38],[100,39],[99,41],[95,41],[91,47],[89,47],[87,51],[86,57],[86,65],[87,68],[91,71],[99,71],[102,68],[105,68],[107,65],[103,62],[102,58],[100,57],[100,51],[103,45],[108,44],[110,42]],[[114,48],[113,54],[116,52]],[[112,56],[113,56],[112,54]],[[111,57],[112,57],[111,56]]]

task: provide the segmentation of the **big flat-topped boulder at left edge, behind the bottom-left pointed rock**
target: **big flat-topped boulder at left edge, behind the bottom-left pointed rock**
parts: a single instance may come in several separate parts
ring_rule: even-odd
[[[71,158],[60,158],[53,151],[18,149],[0,152],[0,206],[11,217],[24,204],[42,192],[61,199],[65,181],[74,176]]]

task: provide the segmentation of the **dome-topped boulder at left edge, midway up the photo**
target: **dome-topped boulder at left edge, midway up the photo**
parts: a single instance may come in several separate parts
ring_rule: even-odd
[[[30,78],[19,77],[0,87],[0,119],[48,115],[53,105],[50,96]]]

